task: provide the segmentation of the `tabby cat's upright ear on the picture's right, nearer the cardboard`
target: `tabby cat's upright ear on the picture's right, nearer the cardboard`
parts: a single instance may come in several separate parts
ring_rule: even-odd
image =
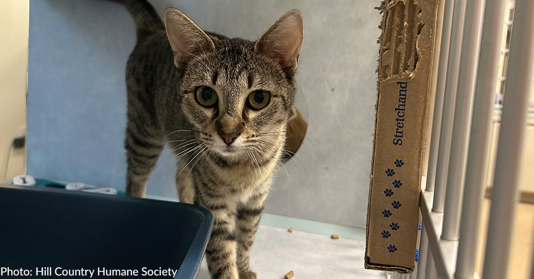
[[[295,71],[304,39],[302,29],[300,12],[288,11],[257,40],[254,51],[277,59],[283,69]]]

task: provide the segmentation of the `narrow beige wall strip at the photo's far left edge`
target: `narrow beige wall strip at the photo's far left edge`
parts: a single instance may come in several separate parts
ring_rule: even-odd
[[[25,173],[25,152],[13,150],[4,178],[7,151],[19,129],[26,129],[28,0],[0,0],[0,181]],[[21,128],[22,127],[22,128]]]

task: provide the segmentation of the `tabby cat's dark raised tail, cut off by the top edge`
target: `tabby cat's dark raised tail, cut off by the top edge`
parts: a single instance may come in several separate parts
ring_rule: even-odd
[[[111,0],[122,4],[130,13],[137,27],[137,38],[165,30],[165,24],[147,0]]]

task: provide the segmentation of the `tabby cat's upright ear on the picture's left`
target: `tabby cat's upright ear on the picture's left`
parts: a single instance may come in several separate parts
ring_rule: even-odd
[[[215,45],[208,35],[177,9],[165,11],[165,28],[174,54],[174,64],[179,69],[183,69],[195,55],[215,51]]]

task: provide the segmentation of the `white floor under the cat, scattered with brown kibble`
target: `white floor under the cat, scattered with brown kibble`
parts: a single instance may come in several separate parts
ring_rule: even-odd
[[[260,225],[250,257],[258,279],[383,279],[384,272],[364,269],[365,241],[333,240],[327,235]],[[206,261],[198,279],[210,279]]]

